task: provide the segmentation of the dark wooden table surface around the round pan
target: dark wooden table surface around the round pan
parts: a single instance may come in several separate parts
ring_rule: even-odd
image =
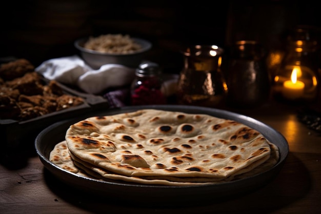
[[[321,134],[300,123],[292,105],[273,102],[257,109],[232,110],[271,126],[289,143],[290,152],[281,171],[256,190],[197,206],[117,203],[112,192],[101,197],[62,183],[45,169],[31,148],[2,157],[0,213],[320,213]],[[184,204],[179,200],[173,203]]]

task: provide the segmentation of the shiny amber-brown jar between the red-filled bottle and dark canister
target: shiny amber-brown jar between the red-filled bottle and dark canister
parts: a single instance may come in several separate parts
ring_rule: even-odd
[[[196,45],[183,52],[184,68],[177,84],[177,103],[223,107],[227,86],[221,70],[224,50],[216,45]]]

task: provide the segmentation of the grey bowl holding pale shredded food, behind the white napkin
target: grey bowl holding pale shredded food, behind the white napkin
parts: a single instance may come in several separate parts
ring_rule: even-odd
[[[138,67],[142,63],[146,53],[152,48],[152,44],[142,38],[132,37],[131,39],[142,46],[142,49],[132,53],[102,53],[95,50],[84,48],[84,44],[89,37],[80,38],[74,42],[76,49],[80,51],[83,60],[93,69],[99,69],[105,64],[118,64],[131,68]]]

